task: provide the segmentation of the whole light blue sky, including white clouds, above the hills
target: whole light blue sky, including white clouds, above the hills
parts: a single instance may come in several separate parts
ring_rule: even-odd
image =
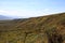
[[[65,12],[65,0],[0,0],[0,15],[35,17]]]

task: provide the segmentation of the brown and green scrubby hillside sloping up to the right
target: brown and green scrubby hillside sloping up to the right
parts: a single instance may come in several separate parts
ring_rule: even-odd
[[[65,13],[0,20],[0,43],[65,43]]]

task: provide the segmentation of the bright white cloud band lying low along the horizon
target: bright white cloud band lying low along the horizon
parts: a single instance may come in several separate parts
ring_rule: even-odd
[[[18,17],[31,17],[31,16],[42,16],[49,15],[52,12],[50,9],[44,9],[40,11],[30,11],[30,10],[0,10],[0,14],[6,16],[18,16]]]

